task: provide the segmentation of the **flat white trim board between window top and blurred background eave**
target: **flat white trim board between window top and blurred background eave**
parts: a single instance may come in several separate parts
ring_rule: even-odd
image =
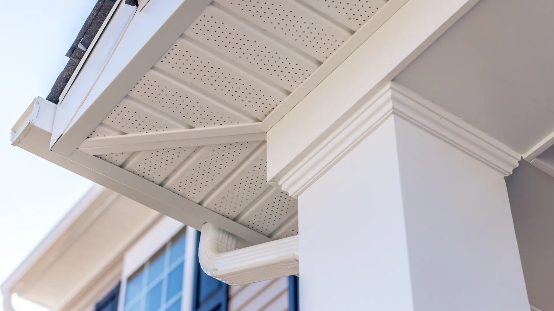
[[[168,216],[162,216],[139,241],[125,252],[121,277],[129,278],[183,227],[181,222]]]

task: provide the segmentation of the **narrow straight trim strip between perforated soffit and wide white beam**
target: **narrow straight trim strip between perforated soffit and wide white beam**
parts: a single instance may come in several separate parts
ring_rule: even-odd
[[[296,88],[286,99],[281,102],[269,115],[260,123],[260,129],[269,131],[286,113],[297,103],[308,95],[317,85],[320,84],[338,65],[342,63],[353,51],[362,45],[367,38],[371,37],[381,25],[383,25],[399,8],[408,0],[389,0],[370,20],[357,30],[329,59],[317,68],[302,84]]]

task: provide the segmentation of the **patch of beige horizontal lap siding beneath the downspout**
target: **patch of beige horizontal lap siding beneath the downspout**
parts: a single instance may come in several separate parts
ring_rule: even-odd
[[[289,310],[288,277],[229,287],[229,311]]]

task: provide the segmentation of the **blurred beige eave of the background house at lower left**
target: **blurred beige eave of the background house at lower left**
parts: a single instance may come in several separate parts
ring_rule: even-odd
[[[159,215],[96,185],[4,281],[2,292],[57,310],[120,257]]]

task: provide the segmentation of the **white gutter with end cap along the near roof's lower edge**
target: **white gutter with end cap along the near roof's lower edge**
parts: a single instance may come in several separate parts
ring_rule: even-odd
[[[38,118],[34,125],[28,123],[26,126],[23,126],[23,122],[19,122],[21,124],[18,123],[18,126],[23,127],[23,129],[14,135],[14,146],[18,146],[54,164],[69,169],[71,172],[79,174],[108,189],[112,189],[131,200],[140,202],[148,208],[181,221],[183,224],[189,225],[194,229],[202,230],[204,223],[211,222],[221,229],[229,231],[254,244],[271,241],[269,237],[240,225],[212,210],[206,209],[139,175],[116,167],[94,155],[77,149],[70,157],[63,157],[50,151],[49,142],[52,135],[50,131],[52,131],[57,105],[47,100],[42,100],[41,102],[44,102],[45,108],[43,108],[41,103],[38,110]]]

